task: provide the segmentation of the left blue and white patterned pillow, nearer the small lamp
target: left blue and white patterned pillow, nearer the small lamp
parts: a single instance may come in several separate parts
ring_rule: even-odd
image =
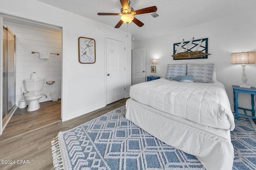
[[[186,76],[187,64],[168,64],[165,79]]]

